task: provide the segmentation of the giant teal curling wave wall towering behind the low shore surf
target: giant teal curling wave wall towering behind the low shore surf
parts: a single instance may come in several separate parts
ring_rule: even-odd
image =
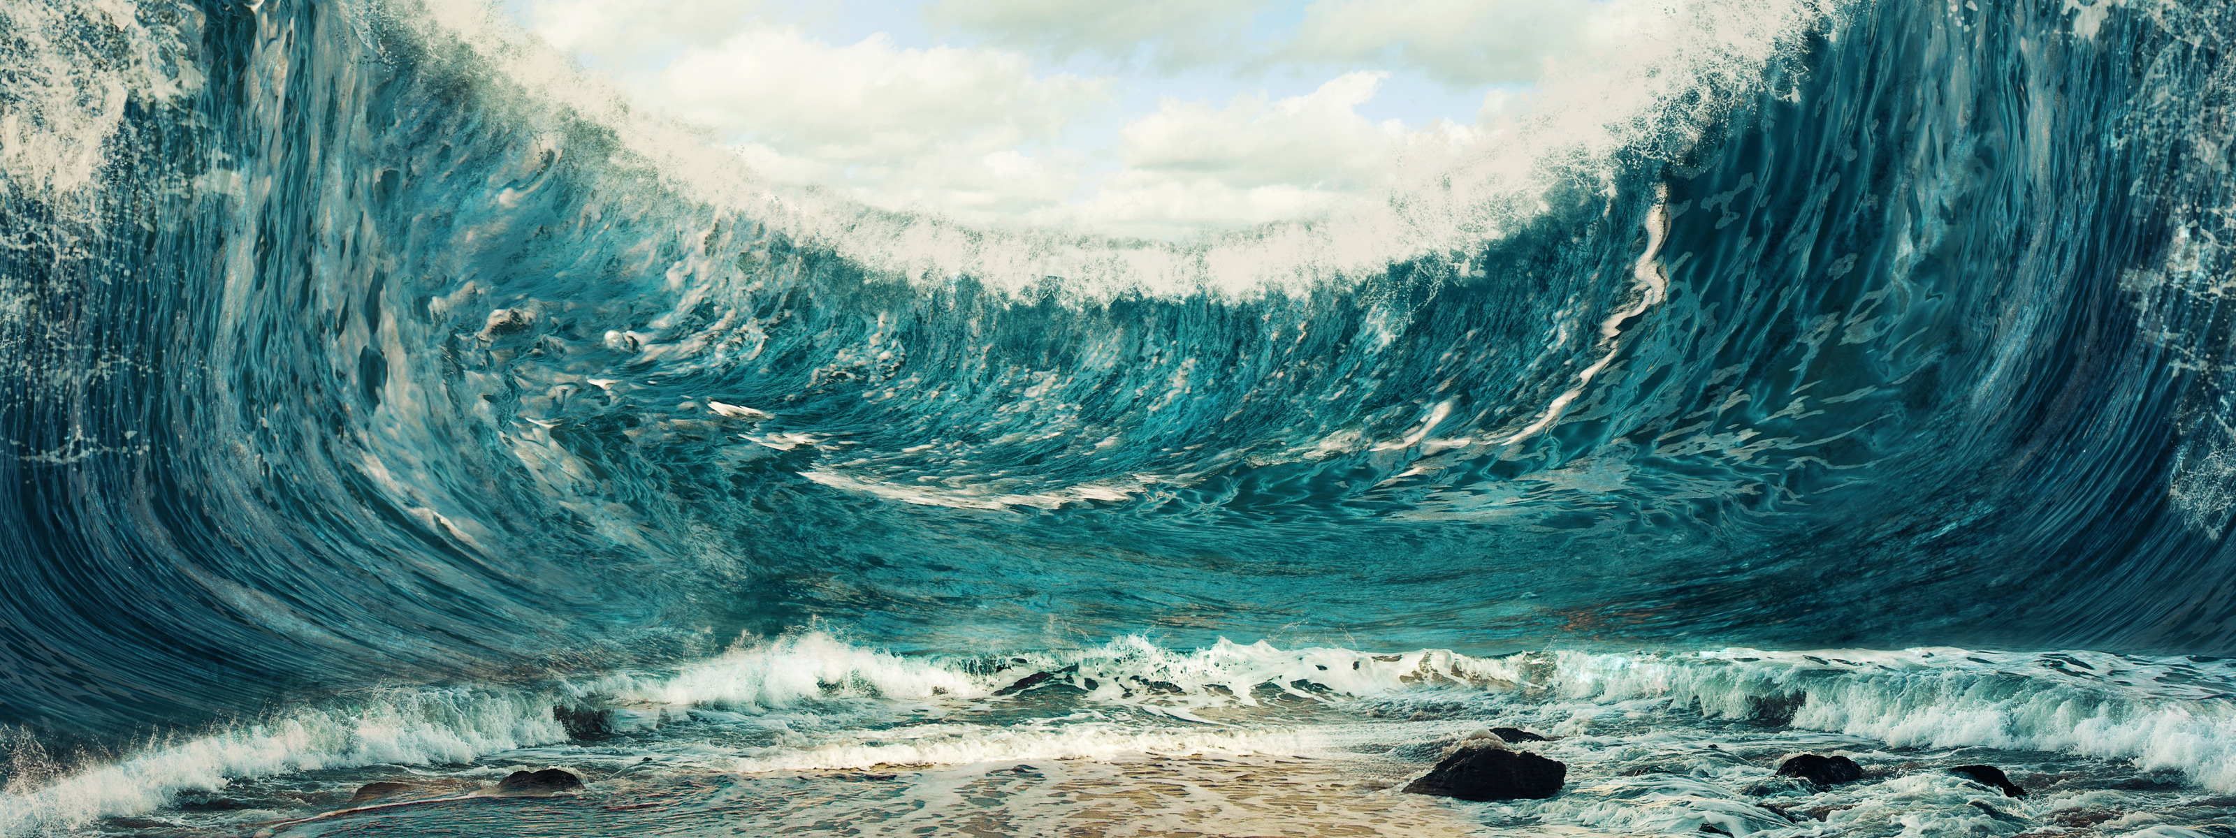
[[[1167,246],[771,190],[479,4],[11,4],[0,722],[809,619],[2225,650],[2232,16],[1641,11],[1386,206]],[[557,735],[521,706],[461,753]]]

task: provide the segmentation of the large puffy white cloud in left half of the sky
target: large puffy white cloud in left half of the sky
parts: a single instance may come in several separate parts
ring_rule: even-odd
[[[762,174],[888,210],[997,221],[1064,201],[1089,161],[1055,150],[1107,83],[999,49],[827,45],[749,27],[639,78],[644,101],[736,143]]]

